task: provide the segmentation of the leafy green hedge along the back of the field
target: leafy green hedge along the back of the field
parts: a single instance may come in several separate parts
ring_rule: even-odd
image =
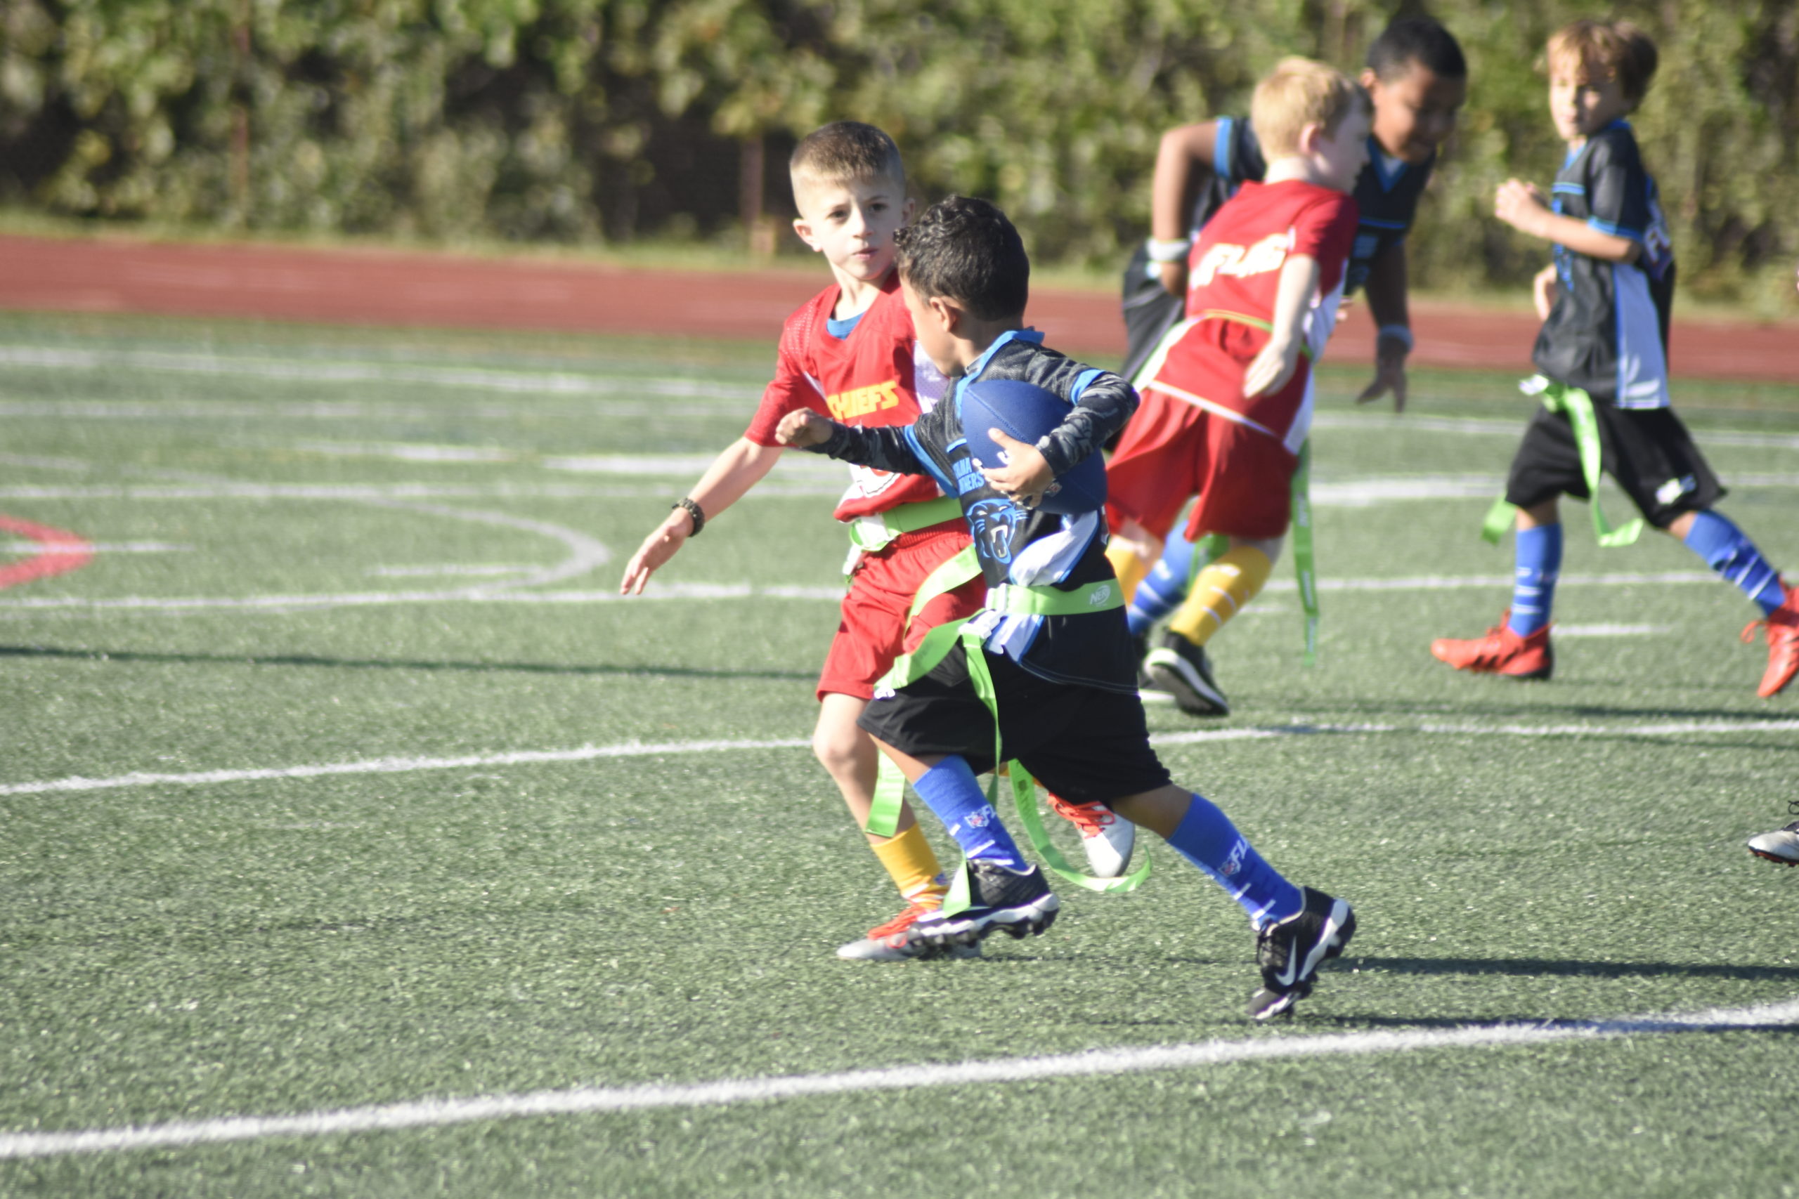
[[[1491,192],[1554,171],[1535,63],[1587,9],[1434,11],[1473,92],[1414,270],[1517,282],[1540,252],[1493,221]],[[739,214],[720,178],[745,146],[851,115],[894,133],[921,196],[988,194],[1040,257],[1117,261],[1148,221],[1164,128],[1241,111],[1283,54],[1351,65],[1391,14],[1369,0],[13,0],[0,198],[250,230],[718,232]],[[1662,50],[1637,124],[1686,277],[1785,291],[1799,9],[1632,0],[1621,14]]]

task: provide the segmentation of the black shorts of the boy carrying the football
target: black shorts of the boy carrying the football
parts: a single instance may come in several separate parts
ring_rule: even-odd
[[[1007,760],[1074,804],[1110,804],[1166,786],[1135,694],[1051,683],[1011,658],[986,654]],[[993,769],[993,717],[968,679],[961,642],[925,678],[874,697],[856,721],[876,741],[912,757],[961,755]]]

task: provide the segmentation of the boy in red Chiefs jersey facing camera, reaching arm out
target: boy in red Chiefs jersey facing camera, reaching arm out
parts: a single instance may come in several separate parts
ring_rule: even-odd
[[[912,201],[892,138],[855,120],[828,124],[801,140],[788,169],[799,209],[793,232],[824,255],[835,280],[788,316],[775,377],[748,430],[644,537],[624,570],[621,593],[640,595],[687,537],[768,475],[781,457],[774,431],[788,412],[810,408],[860,426],[912,424],[943,395],[943,376],[926,356],[914,356],[912,318],[894,275],[894,230],[912,216]],[[860,554],[819,676],[811,746],[856,823],[867,825],[878,753],[856,717],[894,658],[914,649],[930,627],[973,615],[986,582],[973,555],[961,555],[970,545],[961,509],[928,478],[851,467],[837,520],[849,525]],[[917,599],[925,602],[912,615]],[[1090,825],[1083,834],[1099,832],[1099,820],[1106,820],[1114,841],[1130,836],[1130,825],[1110,813],[1083,814]],[[892,836],[867,838],[907,906],[842,946],[838,956],[921,956],[910,928],[943,904],[937,857],[910,805],[901,805]],[[1128,847],[1121,852],[1128,859]]]

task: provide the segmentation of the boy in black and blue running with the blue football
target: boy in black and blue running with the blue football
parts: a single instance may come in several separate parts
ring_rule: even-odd
[[[847,462],[935,478],[975,530],[986,608],[950,636],[934,633],[860,721],[968,859],[959,879],[966,902],[921,917],[914,937],[930,947],[979,944],[995,928],[1022,937],[1056,919],[1060,904],[1042,870],[1024,863],[975,782],[977,771],[1016,760],[1054,795],[1153,829],[1218,881],[1258,929],[1263,985],[1250,1016],[1290,1010],[1311,992],[1319,964],[1347,944],[1355,915],[1283,879],[1216,805],[1169,782],[1135,694],[1101,514],[1038,507],[1058,475],[1124,424],[1135,394],[1119,376],[1070,361],[1022,329],[1031,262],[991,203],[952,196],[898,243],[919,349],[955,379],[953,392],[910,428],[851,428],[797,410],[777,435]],[[1069,415],[1034,446],[991,430],[1006,464],[977,469],[962,403],[986,381],[1052,392],[1069,401]]]

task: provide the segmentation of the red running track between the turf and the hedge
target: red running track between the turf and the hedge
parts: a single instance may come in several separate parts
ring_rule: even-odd
[[[0,307],[254,320],[765,338],[826,273],[707,273],[486,259],[398,250],[171,244],[124,237],[0,237]],[[1124,354],[1117,297],[1036,288],[1029,320],[1070,352]],[[1529,370],[1536,320],[1414,302],[1414,365]],[[1338,363],[1371,361],[1374,329],[1355,306],[1331,342]],[[1799,322],[1675,322],[1673,369],[1709,379],[1799,383]]]

